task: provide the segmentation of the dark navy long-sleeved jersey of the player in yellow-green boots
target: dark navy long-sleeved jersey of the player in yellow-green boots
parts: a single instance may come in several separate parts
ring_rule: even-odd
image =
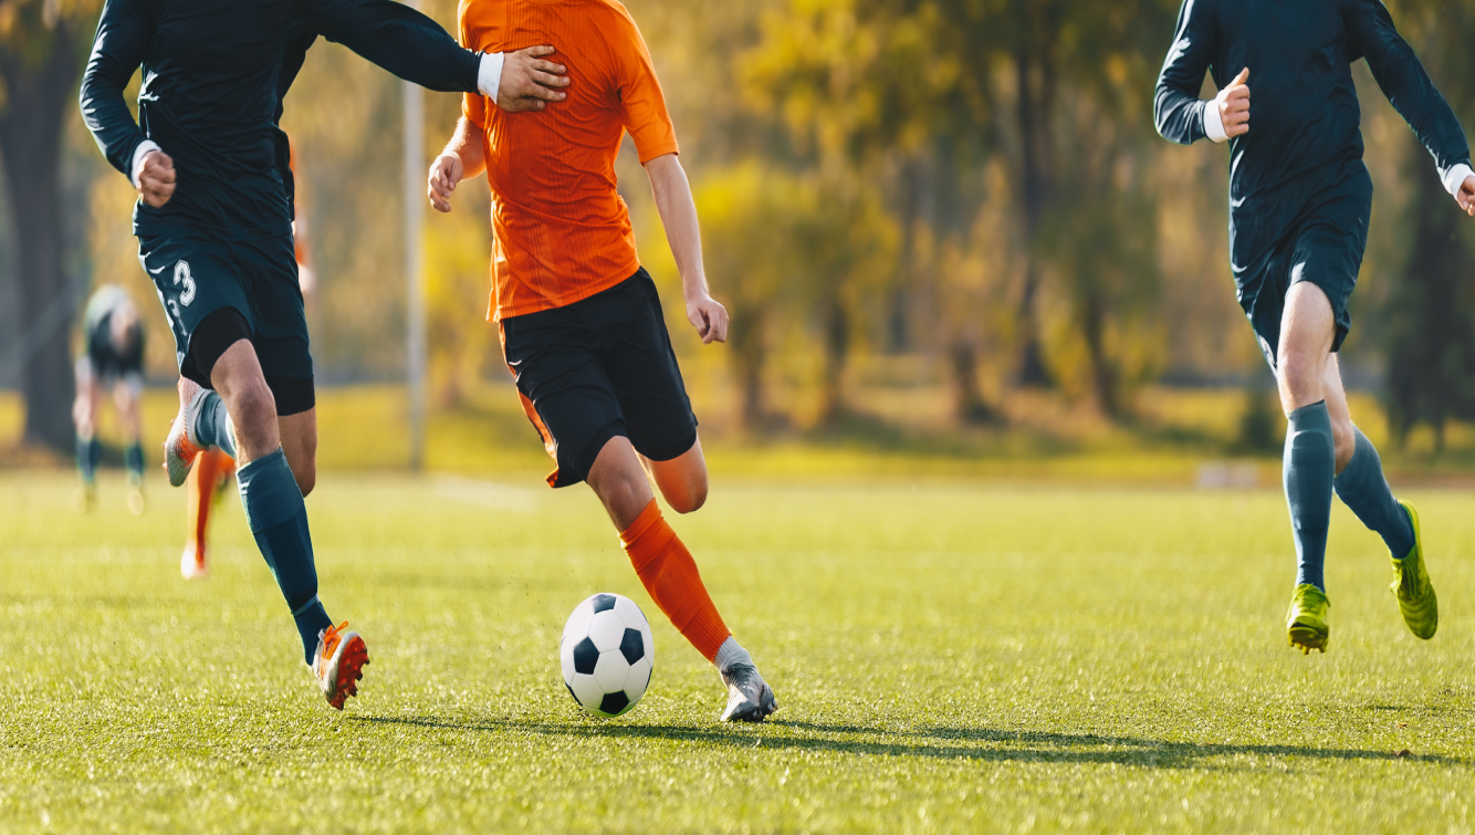
[[[1313,193],[1361,168],[1351,63],[1373,78],[1446,177],[1471,152],[1459,119],[1379,0],[1184,0],[1158,77],[1158,133],[1204,139],[1205,69],[1224,89],[1249,68],[1249,131],[1230,139],[1230,254],[1248,266]],[[1350,168],[1356,167],[1351,173]]]

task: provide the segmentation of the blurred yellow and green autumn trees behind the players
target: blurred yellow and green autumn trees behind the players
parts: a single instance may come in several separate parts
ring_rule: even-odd
[[[702,350],[627,148],[621,193],[704,423],[754,434],[844,431],[857,419],[906,422],[934,403],[935,425],[1028,425],[1044,398],[1131,425],[1148,387],[1243,385],[1245,443],[1274,444],[1268,373],[1227,266],[1227,153],[1208,143],[1177,148],[1152,130],[1152,86],[1177,0],[627,6],[681,139],[714,292],[733,311],[732,342]],[[1475,125],[1475,59],[1463,49],[1475,34],[1475,0],[1388,6],[1456,112]],[[425,7],[454,31],[454,3]],[[65,139],[50,145],[59,150],[60,202],[44,223],[58,240],[75,239],[58,249],[44,288],[80,274],[121,283],[145,302],[152,295],[128,233],[131,190],[100,161],[75,112],[75,74],[90,40],[78,32],[94,19],[96,4],[0,0],[6,361],[19,357],[38,299],[62,292],[37,295],[44,282],[27,261],[35,186],[16,180],[15,159],[25,152],[4,133],[15,133],[27,72],[43,53],[66,56],[55,59],[58,78],[72,74],[56,111]],[[1356,75],[1379,196],[1344,366],[1351,384],[1384,394],[1395,435],[1429,426],[1438,437],[1450,419],[1475,419],[1475,224],[1462,223],[1366,68]],[[1212,94],[1208,81],[1204,94]],[[426,114],[434,153],[459,97],[428,94]],[[397,379],[400,84],[319,43],[283,122],[314,233],[320,291],[310,316],[320,379]],[[21,133],[40,136],[41,127],[28,121]],[[457,201],[448,217],[429,212],[425,227],[431,379],[441,407],[507,379],[484,322],[485,181],[460,189]],[[173,351],[162,314],[145,308],[150,369],[167,378]]]

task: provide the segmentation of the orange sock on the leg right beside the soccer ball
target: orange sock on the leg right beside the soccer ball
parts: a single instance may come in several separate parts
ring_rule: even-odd
[[[704,658],[717,658],[717,649],[732,633],[717,614],[692,553],[661,518],[655,499],[634,524],[620,534],[620,543],[636,567],[636,575],[677,628]]]

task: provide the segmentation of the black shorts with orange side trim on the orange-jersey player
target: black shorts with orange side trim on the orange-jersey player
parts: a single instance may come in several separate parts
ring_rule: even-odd
[[[696,443],[696,415],[643,267],[566,307],[503,319],[502,347],[522,407],[558,463],[553,487],[584,481],[617,435],[650,460]]]

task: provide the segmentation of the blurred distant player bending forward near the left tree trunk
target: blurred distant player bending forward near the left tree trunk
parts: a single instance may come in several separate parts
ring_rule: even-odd
[[[143,447],[139,444],[139,404],[143,397],[143,323],[139,308],[122,288],[103,285],[87,299],[83,314],[83,353],[77,357],[77,401],[72,422],[77,426],[77,471],[81,474],[78,506],[90,509],[97,500],[97,407],[112,394],[118,423],[127,443],[128,510],[143,513]]]

